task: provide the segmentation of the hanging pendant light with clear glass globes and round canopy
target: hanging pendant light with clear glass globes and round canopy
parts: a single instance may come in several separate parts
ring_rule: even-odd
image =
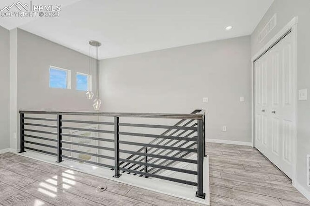
[[[95,95],[92,91],[91,79],[88,81],[88,91],[86,92],[87,99],[95,99],[93,101],[94,110],[100,110],[101,100],[99,98],[99,60],[98,60],[98,48],[101,46],[100,42],[91,40],[89,41],[89,75],[93,76],[95,88]]]

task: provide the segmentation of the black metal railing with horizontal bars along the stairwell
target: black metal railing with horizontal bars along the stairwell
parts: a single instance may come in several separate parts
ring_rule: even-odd
[[[57,162],[68,159],[110,168],[114,170],[113,177],[115,178],[121,177],[122,174],[132,174],[136,177],[139,176],[137,178],[143,176],[153,177],[197,186],[196,196],[203,199],[205,198],[205,193],[203,192],[203,162],[205,157],[204,110],[195,110],[190,114],[58,111],[19,111],[19,113],[20,153],[26,152],[26,150],[32,150],[56,156]],[[46,116],[48,116],[48,118]],[[103,122],[100,121],[98,117],[112,117],[114,121]],[[170,126],[121,123],[120,118],[162,118],[181,120]],[[47,124],[46,122],[49,123]],[[81,128],[81,124],[108,125],[109,127],[114,127],[114,129]],[[120,126],[161,128],[167,130],[160,135],[133,133],[120,131]],[[107,136],[101,138],[100,136],[85,136],[72,134],[68,131],[112,134],[113,137]],[[40,133],[40,135],[37,133]],[[143,141],[134,142],[134,138],[130,138],[129,141],[124,141],[121,135],[154,138],[154,140],[147,144],[141,143]],[[122,145],[123,148],[120,148],[120,145]],[[136,151],[124,149],[126,145],[138,146],[140,149]],[[107,153],[108,151],[112,151],[114,156],[103,155],[104,152]],[[122,156],[124,156],[124,154],[129,154],[129,157],[123,159],[120,157],[120,153],[122,153]],[[192,153],[197,154],[197,160],[187,158],[188,155]],[[87,159],[85,156],[90,156],[92,158]],[[111,160],[113,163],[111,163]],[[197,170],[178,168],[176,167],[177,162],[196,164]],[[160,171],[163,170],[195,175],[197,176],[197,180],[189,181],[182,178],[175,178],[167,173],[162,173],[161,175]],[[166,176],[164,174],[166,174]]]

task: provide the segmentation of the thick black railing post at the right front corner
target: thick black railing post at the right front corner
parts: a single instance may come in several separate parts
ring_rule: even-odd
[[[204,158],[204,143],[203,143],[203,120],[198,120],[198,144],[197,144],[197,156],[198,156],[198,169],[197,169],[197,192],[196,197],[205,199],[205,193],[203,193],[203,158]]]

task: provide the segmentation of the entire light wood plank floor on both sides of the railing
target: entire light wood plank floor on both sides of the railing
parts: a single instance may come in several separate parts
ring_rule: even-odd
[[[305,206],[310,202],[255,149],[207,144],[211,206]],[[106,184],[108,190],[96,193]],[[104,195],[103,195],[104,194]],[[0,154],[0,206],[196,206],[13,153]]]

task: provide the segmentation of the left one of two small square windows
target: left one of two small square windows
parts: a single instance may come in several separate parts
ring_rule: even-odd
[[[49,87],[50,88],[71,88],[70,70],[49,67]]]

